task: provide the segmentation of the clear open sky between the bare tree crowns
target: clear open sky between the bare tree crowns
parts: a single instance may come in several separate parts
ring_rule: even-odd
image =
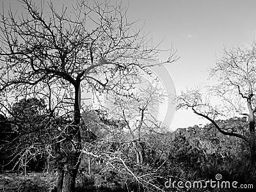
[[[15,0],[2,2],[17,6]],[[70,6],[70,2],[54,1],[60,7]],[[171,45],[177,49],[179,61],[166,65],[177,94],[210,83],[209,68],[214,67],[224,47],[248,45],[255,38],[255,0],[129,0],[123,4],[129,4],[127,18],[138,20],[138,26],[144,25],[143,30],[150,32],[155,44],[163,40],[161,49]],[[163,60],[167,56],[161,54]],[[175,112],[170,127],[205,123],[191,111],[183,110]]]

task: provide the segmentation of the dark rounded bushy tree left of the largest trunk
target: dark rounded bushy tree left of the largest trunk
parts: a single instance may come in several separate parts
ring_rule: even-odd
[[[1,152],[5,152],[3,158],[6,159],[4,166],[9,170],[24,168],[25,171],[29,164],[29,168],[38,168],[35,161],[44,159],[44,144],[49,141],[46,136],[48,130],[45,129],[47,110],[44,100],[21,99],[8,112],[1,130]],[[40,168],[43,168],[42,164]]]

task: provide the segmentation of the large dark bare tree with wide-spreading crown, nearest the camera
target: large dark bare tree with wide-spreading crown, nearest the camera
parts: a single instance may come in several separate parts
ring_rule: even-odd
[[[70,118],[56,143],[65,153],[58,191],[74,191],[81,154],[81,92],[120,93],[138,77],[138,68],[177,60],[170,49],[166,61],[127,8],[109,1],[76,1],[58,13],[51,1],[36,5],[20,0],[24,12],[3,12],[0,20],[0,91],[11,97],[45,95],[50,115]],[[129,78],[126,78],[129,76]],[[5,101],[6,101],[5,100]],[[4,106],[4,100],[2,100]]]

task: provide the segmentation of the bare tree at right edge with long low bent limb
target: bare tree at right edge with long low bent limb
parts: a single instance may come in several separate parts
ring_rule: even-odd
[[[211,70],[211,77],[216,77],[218,84],[208,87],[207,93],[202,93],[200,90],[182,92],[178,104],[179,108],[191,108],[196,115],[209,120],[222,134],[236,136],[246,141],[254,164],[256,163],[255,61],[255,42],[250,47],[224,50],[223,57]],[[242,127],[242,132],[237,131],[234,126],[220,125],[216,121],[218,118],[230,118],[236,115],[246,116],[248,120],[248,125]]]

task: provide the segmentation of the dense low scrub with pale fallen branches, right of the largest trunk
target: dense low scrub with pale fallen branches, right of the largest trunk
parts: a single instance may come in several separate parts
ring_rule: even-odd
[[[230,118],[217,122],[248,124],[245,118]],[[175,177],[177,181],[194,182],[202,179],[216,180],[217,174],[222,175],[222,180],[255,185],[256,170],[250,161],[250,148],[241,139],[221,134],[214,124],[207,124],[204,127],[195,125],[168,134],[145,135],[141,142],[145,149],[145,161],[138,164],[132,143],[92,141],[88,145],[88,150],[81,156],[76,191],[168,191],[164,183],[170,176]],[[35,171],[35,168],[28,164],[28,170]],[[44,175],[43,178],[47,177],[49,182],[44,184],[45,188],[42,191],[53,189],[53,186],[57,185],[57,180],[52,175],[54,170],[56,168],[52,166],[47,173],[49,176]],[[10,186],[8,180],[10,182],[11,175],[8,173],[5,176],[6,189]],[[33,173],[28,172],[27,175],[27,179],[38,178]],[[22,174],[20,177],[23,178],[19,183],[19,187],[22,188],[29,181],[26,180],[26,175],[25,178]],[[36,180],[33,186],[40,186],[42,182]],[[207,191],[218,190],[227,189],[207,188]]]

